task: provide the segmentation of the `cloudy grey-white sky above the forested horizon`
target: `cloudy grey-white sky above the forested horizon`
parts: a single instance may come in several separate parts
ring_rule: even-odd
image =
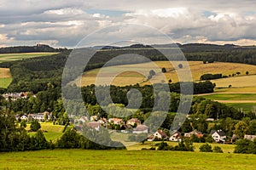
[[[179,43],[256,45],[256,2],[0,0],[0,47],[45,43],[73,48],[96,31],[123,24],[148,26]],[[124,39],[151,38],[152,43],[156,39],[140,29],[123,29],[116,36],[123,32]],[[108,44],[114,33],[107,29],[93,45]]]

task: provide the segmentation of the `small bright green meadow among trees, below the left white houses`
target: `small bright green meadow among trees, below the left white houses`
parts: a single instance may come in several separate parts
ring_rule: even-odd
[[[55,141],[56,139],[60,138],[62,135],[62,131],[64,126],[61,125],[53,125],[49,122],[40,122],[41,130],[46,130],[47,133],[44,133],[45,139]],[[30,129],[30,124],[27,124],[26,130]],[[33,135],[35,133],[29,133]]]

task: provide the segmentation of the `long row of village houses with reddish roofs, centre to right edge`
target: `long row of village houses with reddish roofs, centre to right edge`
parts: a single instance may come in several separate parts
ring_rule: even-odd
[[[76,120],[76,123],[79,124],[76,127],[78,130],[80,130],[84,124],[88,127],[95,128],[96,130],[99,130],[101,126],[111,129],[109,125],[119,125],[120,133],[133,133],[133,134],[149,133],[149,127],[146,125],[143,125],[142,122],[137,118],[131,118],[127,122],[124,122],[124,120],[120,118],[109,118],[109,119],[99,118],[98,119],[97,116],[90,116],[90,119],[88,119],[86,116],[82,116]],[[183,135],[182,133],[177,131],[176,133],[172,133],[172,135],[169,135],[169,136],[163,130],[159,129],[155,133],[148,136],[148,141],[164,139],[164,140],[170,140],[173,142],[181,142],[183,138],[191,138],[193,135],[195,135],[195,137],[197,138],[202,138],[204,136],[203,133],[201,133],[196,129],[189,133],[184,133]],[[212,139],[214,139],[214,141],[217,143],[225,143],[225,140],[227,138],[226,134],[221,129],[212,130],[210,135],[212,136]],[[244,138],[253,140],[256,138],[256,135],[245,135]]]

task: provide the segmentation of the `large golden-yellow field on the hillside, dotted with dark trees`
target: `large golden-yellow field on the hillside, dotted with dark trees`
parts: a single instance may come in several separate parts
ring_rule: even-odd
[[[180,63],[184,65],[182,69],[177,67],[177,65]],[[243,84],[245,83],[243,81],[250,82],[247,84],[247,87],[256,86],[256,81],[255,81],[256,79],[254,79],[256,77],[254,76],[242,77],[246,75],[246,71],[249,71],[249,75],[255,75],[256,74],[255,65],[224,63],[224,62],[203,64],[202,61],[189,61],[188,63],[189,63],[189,69],[192,73],[193,81],[199,81],[201,75],[207,74],[207,73],[211,73],[211,74],[221,73],[224,76],[229,76],[229,75],[232,75],[233,73],[236,74],[236,72],[239,71],[241,72],[240,77],[224,78],[218,81],[215,80],[217,81],[216,82],[217,87],[227,88],[230,84],[232,85],[232,87],[244,87]],[[166,68],[166,73],[164,73],[164,77],[162,77],[161,68]],[[113,82],[111,83],[113,85],[125,86],[125,85],[136,84],[136,83],[140,83],[141,85],[150,84],[151,82],[146,82],[148,77],[148,71],[150,70],[154,70],[156,73],[155,76],[151,79],[152,82],[166,82],[169,79],[171,79],[172,82],[179,82],[180,80],[188,80],[185,78],[185,77],[188,77],[188,74],[185,68],[185,62],[174,61],[171,64],[168,61],[155,61],[150,63],[136,64],[136,65],[110,66],[102,69],[86,71],[83,75],[81,85],[86,86],[90,84],[95,84],[96,77],[98,77],[97,78],[98,81],[101,80],[100,84],[107,84],[107,82],[111,79],[111,77],[113,77],[112,74],[115,71],[124,71],[124,72],[122,74],[119,74],[117,77],[114,76],[115,78],[113,78]],[[101,76],[97,76],[99,71],[103,72]],[[176,71],[178,71],[179,74],[181,75],[180,78],[177,77]]]

